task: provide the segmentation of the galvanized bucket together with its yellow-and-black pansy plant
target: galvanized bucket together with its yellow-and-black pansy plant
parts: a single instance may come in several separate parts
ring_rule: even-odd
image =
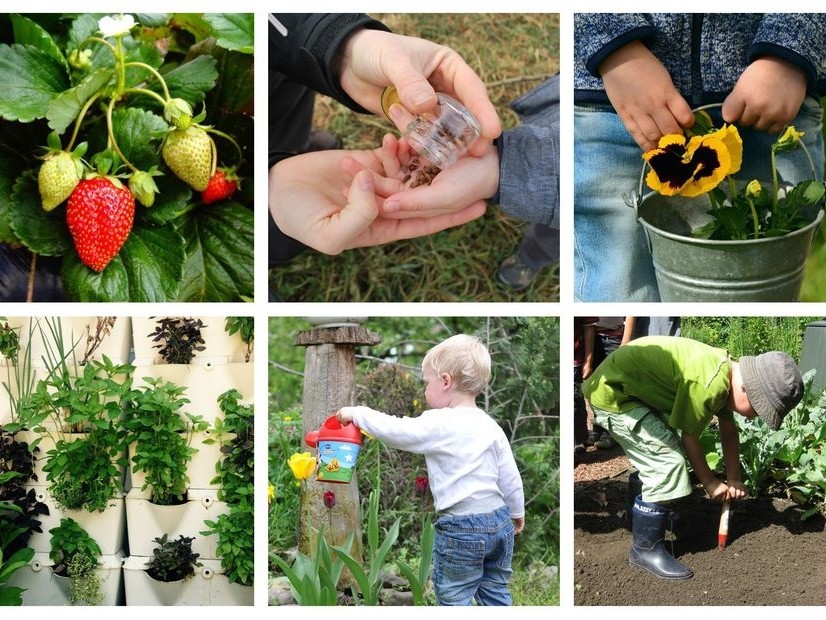
[[[651,245],[662,301],[797,301],[826,186],[783,186],[777,158],[805,151],[794,127],[774,142],[769,179],[737,181],[736,127],[717,129],[703,110],[687,136],[667,135],[643,155],[654,190],[635,204]],[[809,158],[811,164],[811,159]]]

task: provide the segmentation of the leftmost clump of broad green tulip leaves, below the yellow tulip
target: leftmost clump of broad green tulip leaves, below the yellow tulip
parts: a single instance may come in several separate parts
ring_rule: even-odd
[[[347,547],[352,545],[352,536]],[[335,557],[319,532],[313,557],[299,553],[290,566],[278,555],[272,556],[275,565],[290,581],[295,602],[299,605],[333,606],[338,601],[338,582],[344,570],[341,554]]]

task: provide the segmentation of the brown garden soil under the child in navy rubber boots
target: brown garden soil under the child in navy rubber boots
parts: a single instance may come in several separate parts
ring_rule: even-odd
[[[677,505],[674,554],[694,571],[659,579],[628,564],[628,462],[619,448],[577,457],[574,474],[576,605],[823,605],[826,531],[783,498],[732,504],[728,544],[717,548],[720,505],[697,485]],[[668,538],[672,538],[671,535]]]

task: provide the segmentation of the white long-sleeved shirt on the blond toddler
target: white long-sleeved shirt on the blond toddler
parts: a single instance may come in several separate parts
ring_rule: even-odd
[[[423,454],[437,511],[498,496],[511,518],[525,515],[522,477],[505,433],[476,407],[429,409],[397,418],[369,407],[348,407],[353,423],[391,448]]]

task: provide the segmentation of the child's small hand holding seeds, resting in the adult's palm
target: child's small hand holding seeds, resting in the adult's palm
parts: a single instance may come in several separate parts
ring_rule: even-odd
[[[401,160],[406,163],[403,141],[385,136],[385,152],[387,149],[392,151],[394,142],[398,143]],[[345,160],[342,166],[353,175],[363,169],[363,165],[356,160]],[[375,175],[374,182],[377,192],[385,197],[381,214],[392,219],[429,218],[458,213],[472,205],[484,204],[499,186],[499,152],[492,144],[488,145],[481,156],[466,155],[437,174],[430,185],[420,185],[413,189],[399,180],[399,174],[394,174],[391,165],[385,166],[385,169],[390,173],[387,177],[391,178]]]

